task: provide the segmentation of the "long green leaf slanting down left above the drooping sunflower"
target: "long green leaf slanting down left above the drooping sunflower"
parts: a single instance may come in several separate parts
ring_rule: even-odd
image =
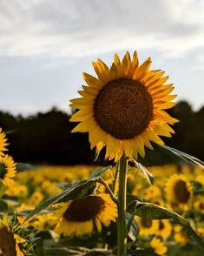
[[[43,210],[47,209],[50,205],[54,205],[60,202],[66,202],[73,199],[82,199],[88,197],[95,191],[95,182],[97,179],[87,179],[77,182],[75,186],[69,187],[62,193],[44,200],[42,203],[36,206],[36,208],[31,211],[23,224],[28,222],[30,219],[34,218],[37,214],[41,213]],[[22,224],[22,225],[23,225]]]

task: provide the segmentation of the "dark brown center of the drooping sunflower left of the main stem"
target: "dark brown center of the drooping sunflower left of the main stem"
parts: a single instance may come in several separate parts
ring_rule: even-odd
[[[83,222],[94,219],[95,216],[104,208],[104,201],[97,196],[89,196],[71,202],[69,208],[63,213],[65,219]]]

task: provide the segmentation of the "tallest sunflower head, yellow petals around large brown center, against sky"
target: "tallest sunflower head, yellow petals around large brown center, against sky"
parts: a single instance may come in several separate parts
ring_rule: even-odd
[[[129,158],[144,157],[144,147],[153,149],[150,141],[163,145],[159,136],[170,137],[168,125],[177,121],[164,110],[174,106],[173,84],[165,84],[164,71],[149,71],[151,59],[139,65],[127,52],[122,61],[115,54],[109,67],[98,59],[93,63],[96,77],[83,73],[87,85],[71,100],[78,109],[70,121],[80,122],[73,132],[89,131],[91,149],[100,152],[106,145],[106,158],[117,161],[125,152]]]

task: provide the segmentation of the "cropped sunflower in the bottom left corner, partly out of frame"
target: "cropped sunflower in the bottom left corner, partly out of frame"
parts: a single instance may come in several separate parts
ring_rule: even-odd
[[[20,244],[26,240],[12,232],[7,216],[0,219],[0,253],[4,256],[24,256]]]

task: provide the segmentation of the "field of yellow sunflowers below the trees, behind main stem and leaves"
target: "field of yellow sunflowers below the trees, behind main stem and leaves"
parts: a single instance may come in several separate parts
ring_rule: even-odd
[[[89,179],[95,169],[97,166],[39,166],[35,170],[17,173],[1,201],[7,205],[1,213],[2,226],[7,223],[10,230],[15,230],[16,223],[23,223],[25,214],[36,205],[62,192],[63,185]],[[128,201],[135,198],[172,209],[188,219],[194,230],[204,237],[204,177],[201,168],[166,165],[149,168],[149,171],[154,175],[154,185],[149,185],[137,168],[129,166]],[[115,167],[110,167],[102,173],[102,179],[116,194],[118,184],[114,184],[114,174]],[[128,206],[131,212],[131,205]],[[3,210],[3,205],[0,209]],[[25,223],[24,230],[16,232],[16,243],[19,240],[19,250],[24,253],[17,255],[32,255],[29,252],[36,244],[38,251],[47,252],[46,255],[66,253],[66,248],[72,246],[114,248],[116,215],[115,203],[103,186],[98,185],[88,198],[57,203]],[[159,255],[202,255],[199,246],[174,219],[147,220],[135,216],[134,221],[135,226],[128,234],[129,249],[137,246]],[[2,230],[0,238],[1,235]],[[2,244],[3,238],[0,247]]]

